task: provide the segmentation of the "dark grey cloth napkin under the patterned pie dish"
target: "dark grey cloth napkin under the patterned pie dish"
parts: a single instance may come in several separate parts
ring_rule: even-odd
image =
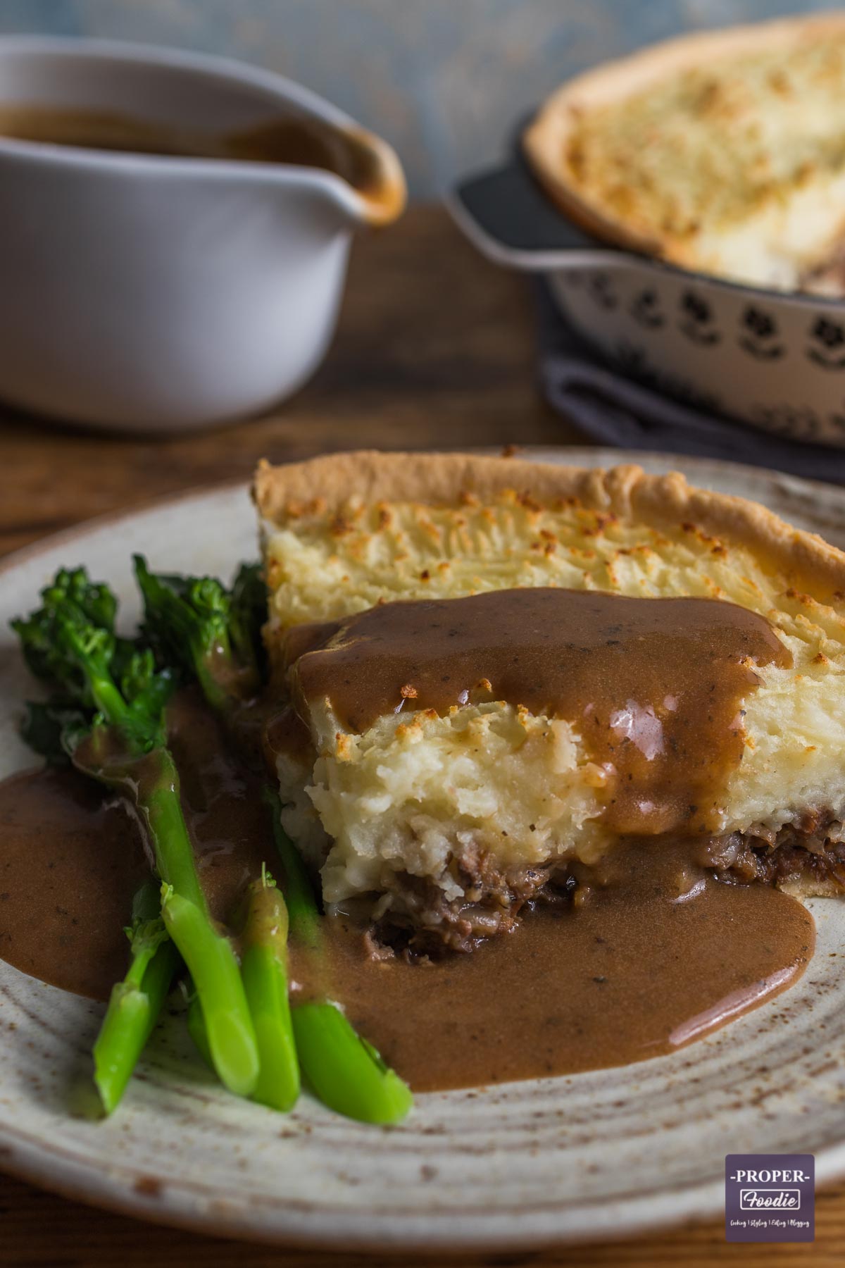
[[[845,449],[782,440],[703,413],[611,369],[580,344],[542,284],[540,379],[549,403],[602,445],[725,458],[845,483]]]

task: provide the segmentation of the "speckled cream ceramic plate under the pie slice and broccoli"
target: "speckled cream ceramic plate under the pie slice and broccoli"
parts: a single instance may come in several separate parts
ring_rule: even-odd
[[[543,451],[549,462],[625,459]],[[727,463],[633,455],[764,502],[845,547],[845,489]],[[129,555],[229,573],[255,554],[243,488],[198,493],[63,534],[0,573],[0,630],[60,564],[87,564],[134,615]],[[0,634],[0,773],[32,763],[15,734],[27,691]],[[0,844],[1,850],[1,844]],[[224,1094],[165,1022],[124,1104],[91,1116],[100,1007],[0,962],[0,1167],[86,1202],[266,1241],[345,1249],[528,1248],[630,1234],[722,1208],[727,1153],[816,1154],[845,1173],[845,905],[815,900],[818,948],[801,983],[674,1056],[573,1078],[417,1098],[397,1129],[303,1096],[274,1115]]]

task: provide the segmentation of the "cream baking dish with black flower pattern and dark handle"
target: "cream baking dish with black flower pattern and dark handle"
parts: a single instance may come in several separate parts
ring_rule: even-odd
[[[845,301],[600,243],[518,161],[462,183],[448,205],[490,260],[545,275],[571,328],[632,378],[764,431],[845,446]]]

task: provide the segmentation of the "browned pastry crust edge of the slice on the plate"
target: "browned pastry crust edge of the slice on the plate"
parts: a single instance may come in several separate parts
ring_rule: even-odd
[[[485,501],[507,491],[545,506],[575,498],[664,531],[692,524],[750,549],[787,588],[818,602],[841,602],[845,596],[845,553],[758,502],[694,488],[679,472],[647,476],[636,465],[603,470],[479,454],[357,450],[283,467],[261,462],[253,482],[262,520],[280,527],[336,515],[352,496],[365,503],[460,506],[467,495]]]

